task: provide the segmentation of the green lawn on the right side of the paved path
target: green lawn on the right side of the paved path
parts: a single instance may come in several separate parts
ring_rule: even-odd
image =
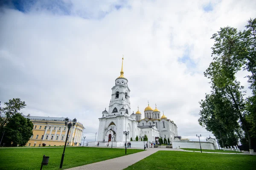
[[[125,170],[253,170],[256,156],[158,151]]]

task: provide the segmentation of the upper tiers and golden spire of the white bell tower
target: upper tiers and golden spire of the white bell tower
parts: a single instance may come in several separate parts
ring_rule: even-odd
[[[115,85],[112,88],[111,101],[109,103],[108,114],[131,115],[130,89],[128,88],[128,79],[124,77],[122,57],[122,68],[120,76],[116,78]]]

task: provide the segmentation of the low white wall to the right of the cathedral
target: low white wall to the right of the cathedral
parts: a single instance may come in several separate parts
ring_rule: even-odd
[[[202,149],[215,150],[215,146],[211,142],[201,142],[201,147]],[[200,149],[200,144],[196,141],[172,141],[172,148]]]

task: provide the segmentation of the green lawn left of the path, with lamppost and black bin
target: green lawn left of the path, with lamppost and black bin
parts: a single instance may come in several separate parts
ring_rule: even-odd
[[[59,170],[63,147],[47,148],[1,148],[0,170],[39,170],[43,156],[49,156],[44,170]],[[143,150],[128,149],[127,154]],[[91,164],[124,156],[125,150],[101,147],[66,147],[62,169]]]

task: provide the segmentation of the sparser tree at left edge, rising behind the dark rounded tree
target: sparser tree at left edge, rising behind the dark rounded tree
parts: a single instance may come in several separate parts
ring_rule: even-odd
[[[5,102],[4,104],[6,105],[5,108],[0,107],[0,131],[3,131],[3,127],[9,122],[12,116],[19,113],[26,106],[25,102],[22,102],[20,98],[9,99],[9,102]]]

